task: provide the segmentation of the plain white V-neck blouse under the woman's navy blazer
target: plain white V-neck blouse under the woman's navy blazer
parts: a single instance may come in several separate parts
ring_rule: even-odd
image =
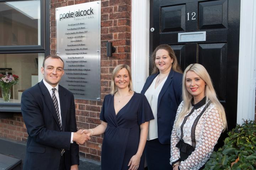
[[[167,76],[168,77],[168,76]],[[158,124],[157,124],[157,103],[158,103],[158,96],[159,93],[164,86],[164,83],[167,79],[167,77],[159,83],[159,85],[155,88],[156,80],[158,79],[158,76],[153,80],[151,85],[149,86],[148,90],[145,92],[145,96],[148,99],[148,102],[150,104],[150,107],[152,109],[154,118],[153,120],[149,121],[149,130],[148,130],[148,138],[147,140],[153,140],[158,138]]]

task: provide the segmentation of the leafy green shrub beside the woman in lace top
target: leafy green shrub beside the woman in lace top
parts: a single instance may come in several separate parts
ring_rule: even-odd
[[[212,153],[204,169],[256,169],[256,121],[246,120],[229,131],[224,146]]]

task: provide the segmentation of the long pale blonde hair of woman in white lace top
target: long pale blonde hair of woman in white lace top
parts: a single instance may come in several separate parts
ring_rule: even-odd
[[[210,78],[210,75],[208,74],[207,70],[201,65],[201,64],[190,64],[184,71],[183,73],[183,78],[182,78],[182,98],[183,98],[183,108],[181,110],[181,113],[178,115],[177,122],[176,122],[176,128],[178,128],[178,124],[183,120],[185,115],[191,111],[192,104],[191,100],[193,96],[187,91],[186,88],[186,74],[188,71],[193,71],[196,73],[201,79],[204,80],[206,83],[205,86],[205,95],[206,95],[206,103],[210,101],[211,103],[214,104],[214,106],[217,108],[219,112],[219,116],[222,119],[222,124],[224,126],[223,131],[227,128],[227,123],[226,123],[226,114],[224,107],[222,104],[220,104],[216,92],[213,88],[212,80]]]

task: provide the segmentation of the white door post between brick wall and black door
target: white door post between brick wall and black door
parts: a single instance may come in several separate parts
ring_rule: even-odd
[[[149,0],[132,0],[131,67],[134,91],[149,76]]]

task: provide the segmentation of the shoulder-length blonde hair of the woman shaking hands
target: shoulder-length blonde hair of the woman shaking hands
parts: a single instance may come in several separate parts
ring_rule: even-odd
[[[117,65],[113,72],[112,72],[112,76],[111,76],[111,91],[110,91],[110,94],[111,95],[114,95],[116,92],[117,92],[117,86],[116,84],[114,83],[114,78],[116,77],[117,73],[121,70],[125,68],[127,71],[128,71],[128,74],[129,74],[129,79],[130,79],[130,83],[128,85],[129,87],[129,92],[133,92],[133,85],[132,85],[132,74],[131,74],[131,70],[130,70],[130,67],[126,64],[119,64]]]

